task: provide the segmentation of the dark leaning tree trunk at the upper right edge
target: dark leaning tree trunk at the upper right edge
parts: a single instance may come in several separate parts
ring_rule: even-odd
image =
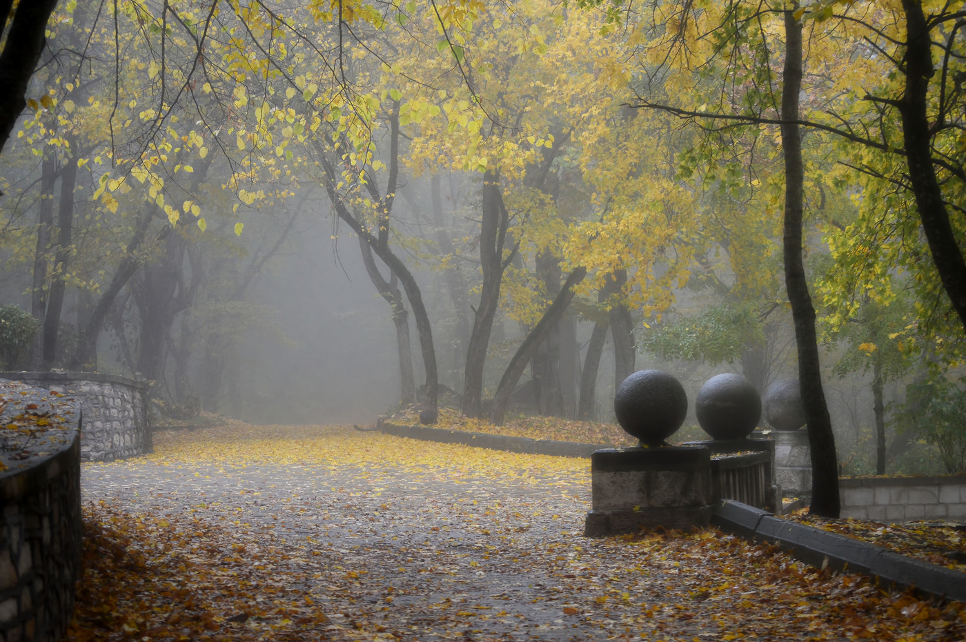
[[[902,137],[905,144],[909,182],[929,243],[932,261],[939,272],[943,288],[966,330],[966,262],[955,234],[950,215],[943,203],[943,192],[932,163],[932,132],[926,111],[929,79],[934,74],[932,42],[919,0],[902,0],[906,15],[905,93],[899,104]]]

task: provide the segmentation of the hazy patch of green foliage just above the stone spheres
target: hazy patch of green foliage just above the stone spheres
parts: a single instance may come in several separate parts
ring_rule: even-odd
[[[761,345],[764,330],[751,303],[717,305],[675,323],[644,332],[643,349],[662,359],[705,361],[711,365],[741,358],[742,349]]]

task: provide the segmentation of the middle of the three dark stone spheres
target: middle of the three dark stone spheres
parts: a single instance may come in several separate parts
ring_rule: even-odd
[[[697,423],[714,439],[744,439],[761,419],[761,397],[748,379],[725,374],[711,377],[697,392]]]

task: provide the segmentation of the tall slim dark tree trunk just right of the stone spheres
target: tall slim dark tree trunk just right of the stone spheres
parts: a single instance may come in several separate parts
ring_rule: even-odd
[[[829,417],[815,337],[815,309],[802,260],[802,217],[805,168],[798,120],[802,88],[802,23],[794,7],[784,12],[785,64],[781,90],[781,148],[785,166],[784,271],[788,302],[795,323],[802,404],[809,426],[812,515],[838,517],[838,458]]]

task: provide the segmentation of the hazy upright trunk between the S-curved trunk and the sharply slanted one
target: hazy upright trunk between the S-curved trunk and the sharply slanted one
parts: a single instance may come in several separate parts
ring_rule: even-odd
[[[469,334],[467,368],[463,377],[463,414],[468,417],[483,415],[483,368],[486,365],[493,321],[499,307],[499,288],[508,265],[503,259],[503,242],[506,239],[509,215],[503,207],[499,177],[493,172],[486,172],[483,175],[481,191],[483,206],[479,248],[483,286]]]

